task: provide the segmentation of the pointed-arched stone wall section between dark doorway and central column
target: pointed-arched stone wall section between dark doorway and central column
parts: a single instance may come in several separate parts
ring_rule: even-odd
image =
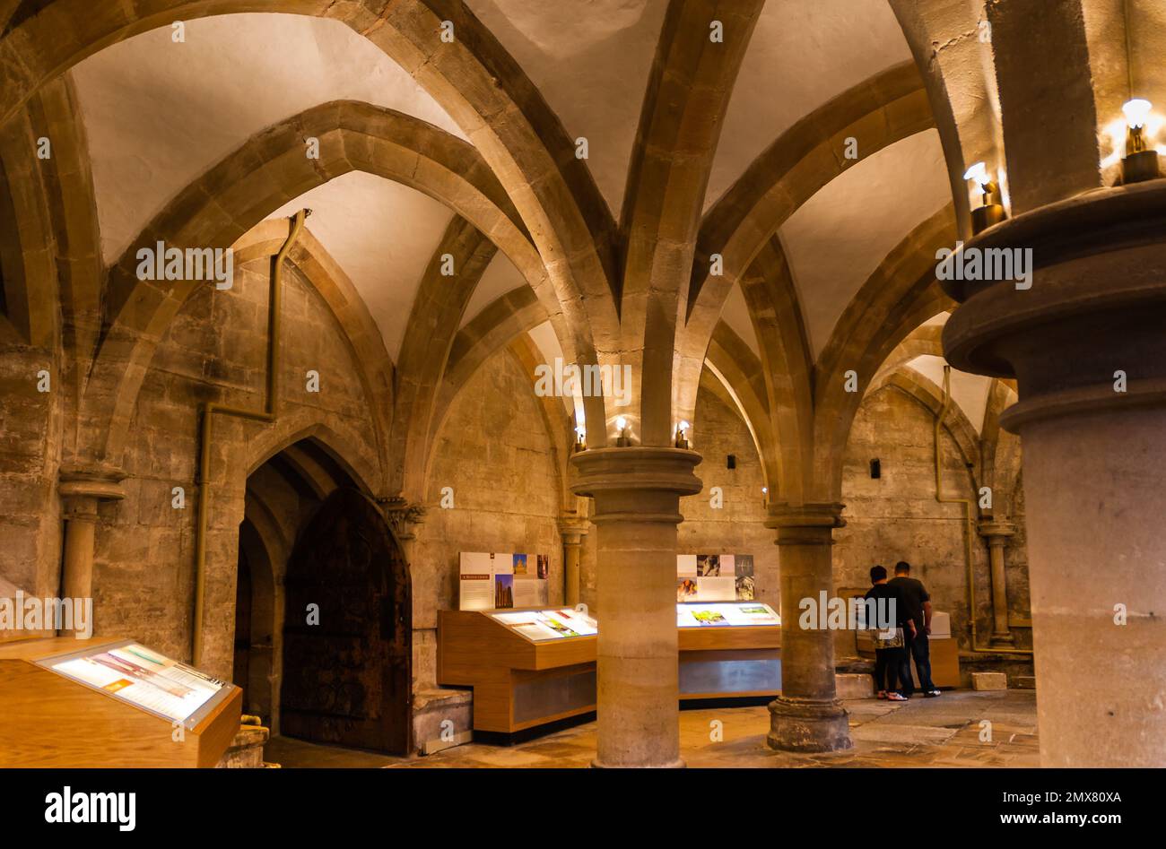
[[[442,489],[454,507],[442,508]],[[457,609],[459,552],[550,555],[549,602],[563,601],[561,485],[529,377],[499,351],[462,388],[433,449],[413,543],[413,676],[436,676],[437,611]]]

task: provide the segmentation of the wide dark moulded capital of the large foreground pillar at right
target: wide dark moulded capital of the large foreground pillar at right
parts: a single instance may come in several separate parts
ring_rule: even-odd
[[[942,281],[961,302],[943,352],[961,371],[1017,379],[1020,401],[1000,416],[1004,428],[1166,406],[1166,181],[1041,206],[984,231],[969,251],[982,265],[988,251],[1006,257],[991,265],[1012,279]],[[1017,289],[1017,261],[1028,288]]]

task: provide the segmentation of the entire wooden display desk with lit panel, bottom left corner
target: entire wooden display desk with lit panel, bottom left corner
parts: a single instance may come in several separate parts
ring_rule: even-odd
[[[215,766],[243,690],[134,640],[0,646],[0,766]]]

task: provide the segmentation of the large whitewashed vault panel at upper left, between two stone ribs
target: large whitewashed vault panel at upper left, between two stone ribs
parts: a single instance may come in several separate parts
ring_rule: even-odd
[[[218,160],[317,104],[364,100],[462,136],[405,70],[338,21],[222,15],[187,21],[184,43],[171,33],[169,26],[143,33],[72,70],[107,262]],[[400,212],[408,220],[409,210]],[[368,220],[374,248],[379,223]]]

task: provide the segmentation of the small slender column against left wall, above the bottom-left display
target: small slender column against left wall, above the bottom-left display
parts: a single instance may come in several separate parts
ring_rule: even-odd
[[[126,493],[121,489],[124,477],[115,472],[62,472],[61,482],[57,484],[65,520],[61,569],[62,598],[93,597],[97,505],[103,500],[125,498]],[[71,637],[73,631],[63,629],[59,634]]]

